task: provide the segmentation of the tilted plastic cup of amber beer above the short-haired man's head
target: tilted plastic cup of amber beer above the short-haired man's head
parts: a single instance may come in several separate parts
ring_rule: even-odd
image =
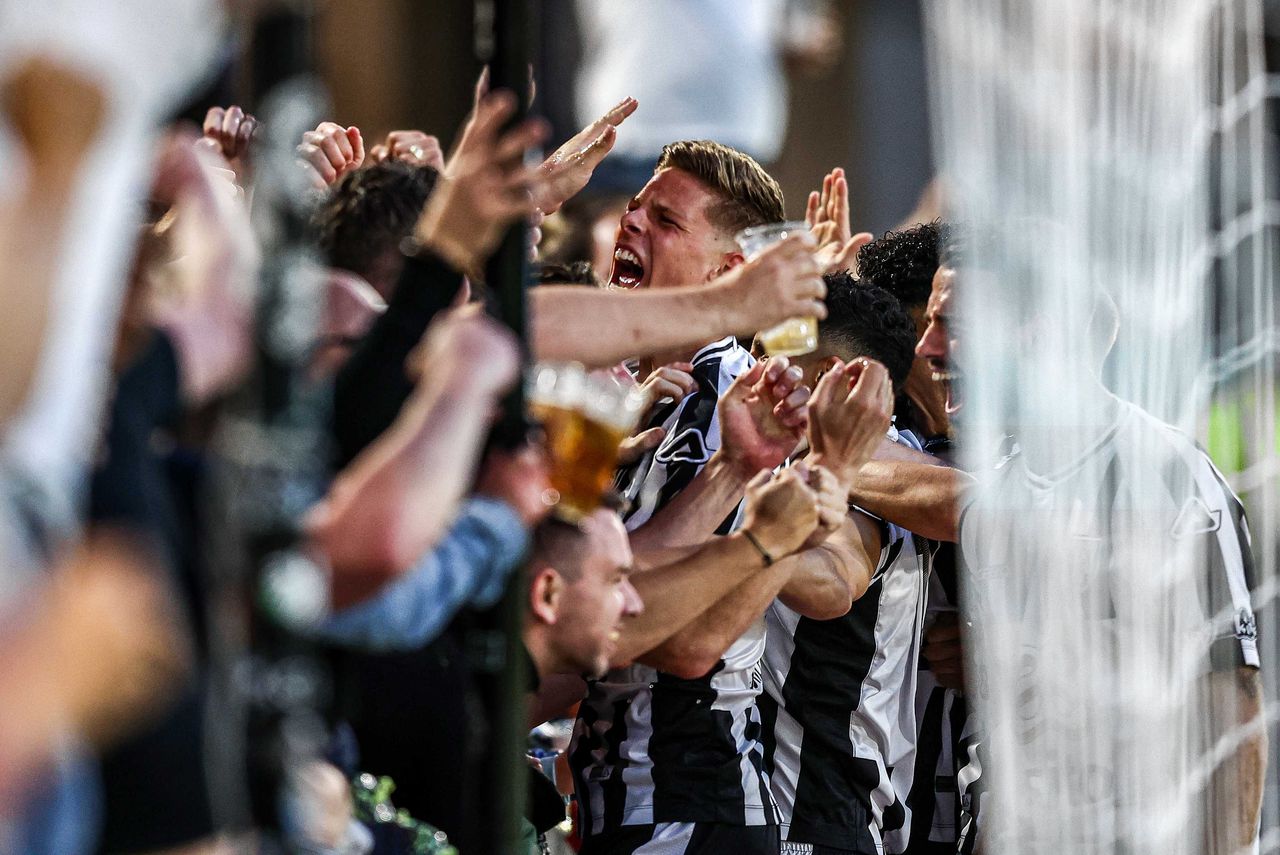
[[[556,512],[570,521],[600,507],[613,481],[618,445],[646,404],[637,387],[589,374],[577,364],[540,364],[534,370],[529,411],[547,431]]]

